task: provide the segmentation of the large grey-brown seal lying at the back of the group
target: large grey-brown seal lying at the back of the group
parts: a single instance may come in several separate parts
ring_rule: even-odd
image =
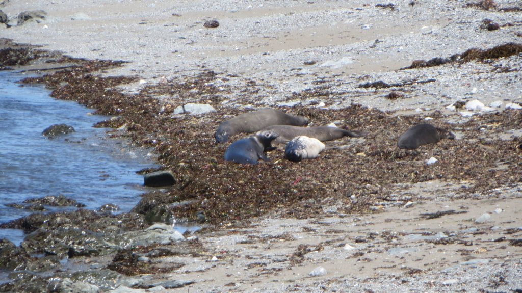
[[[227,142],[230,136],[240,132],[255,132],[272,125],[302,126],[310,119],[304,116],[292,116],[277,109],[260,109],[221,123],[216,130],[216,142]]]

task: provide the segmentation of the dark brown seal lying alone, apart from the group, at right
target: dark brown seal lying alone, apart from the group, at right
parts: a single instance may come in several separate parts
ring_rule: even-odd
[[[441,139],[455,139],[455,135],[444,128],[423,123],[402,133],[397,145],[399,149],[414,150],[424,144],[437,143]]]

